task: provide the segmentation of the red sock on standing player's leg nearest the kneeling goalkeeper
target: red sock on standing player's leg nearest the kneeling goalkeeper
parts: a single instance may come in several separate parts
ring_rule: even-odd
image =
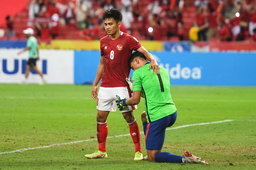
[[[131,138],[133,140],[134,146],[135,146],[135,152],[140,152],[141,151],[141,142],[140,142],[140,129],[139,129],[139,125],[137,123],[136,120],[132,121],[129,124],[129,129],[130,129],[130,134],[131,134]]]

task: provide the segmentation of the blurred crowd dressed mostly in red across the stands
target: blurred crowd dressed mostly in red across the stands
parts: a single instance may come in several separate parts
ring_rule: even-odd
[[[62,39],[64,27],[100,39],[102,13],[113,7],[123,15],[121,31],[139,40],[256,40],[256,0],[28,0],[27,25],[41,39]],[[7,16],[6,37],[14,30]]]

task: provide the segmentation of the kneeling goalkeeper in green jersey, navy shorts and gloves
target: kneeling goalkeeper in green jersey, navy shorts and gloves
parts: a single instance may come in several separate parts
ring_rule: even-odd
[[[138,104],[142,93],[145,99],[145,112],[142,113],[141,119],[147,150],[147,158],[144,159],[153,162],[207,164],[203,158],[196,157],[187,151],[183,153],[183,156],[161,152],[165,130],[174,124],[177,117],[177,109],[170,93],[169,74],[163,67],[159,67],[160,73],[152,74],[147,69],[150,63],[138,51],[131,54],[128,63],[134,70],[133,95],[127,100],[119,98],[116,103],[119,110],[123,110],[124,106]]]

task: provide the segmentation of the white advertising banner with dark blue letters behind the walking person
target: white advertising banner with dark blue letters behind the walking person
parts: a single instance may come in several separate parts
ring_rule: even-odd
[[[0,49],[0,83],[21,83],[25,80],[28,52],[20,49]],[[38,69],[49,84],[74,83],[74,51],[39,50]],[[41,77],[31,70],[27,83],[40,83]]]

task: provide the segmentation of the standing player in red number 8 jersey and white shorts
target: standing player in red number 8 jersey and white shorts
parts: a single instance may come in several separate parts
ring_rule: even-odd
[[[103,13],[103,20],[107,36],[100,40],[100,63],[96,78],[91,90],[91,97],[97,99],[97,139],[99,143],[98,151],[85,155],[87,158],[107,158],[106,138],[108,135],[108,125],[106,119],[109,112],[116,111],[116,94],[123,98],[130,98],[131,91],[126,82],[129,77],[130,68],[128,66],[129,56],[133,50],[142,52],[147,60],[151,61],[148,69],[153,68],[153,72],[158,72],[158,64],[152,54],[141,46],[138,40],[120,31],[122,14],[115,9],[107,10]],[[99,94],[98,83],[101,79]],[[143,159],[141,151],[140,130],[132,110],[136,106],[128,106],[123,111],[123,117],[129,125],[130,134],[135,146],[134,160]]]

